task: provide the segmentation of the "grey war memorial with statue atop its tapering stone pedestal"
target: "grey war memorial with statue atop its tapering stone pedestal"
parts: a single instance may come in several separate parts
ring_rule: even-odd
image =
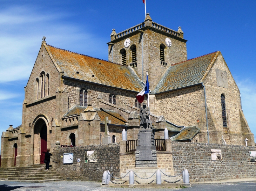
[[[138,146],[135,152],[135,166],[157,167],[154,134],[151,128],[152,122],[149,119],[150,110],[145,103],[142,104],[140,112],[141,127],[138,134]]]

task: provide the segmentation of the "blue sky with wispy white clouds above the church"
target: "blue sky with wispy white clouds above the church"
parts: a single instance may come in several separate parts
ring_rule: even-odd
[[[107,42],[144,21],[142,0],[0,0],[0,131],[21,124],[24,86],[42,37],[48,44],[108,59]],[[241,91],[244,115],[256,135],[256,1],[147,0],[154,22],[181,26],[188,59],[221,51]]]

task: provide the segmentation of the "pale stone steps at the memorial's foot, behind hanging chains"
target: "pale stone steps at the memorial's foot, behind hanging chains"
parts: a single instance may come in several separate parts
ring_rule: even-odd
[[[125,176],[130,170],[133,170],[133,172],[135,172],[136,175],[138,175],[142,178],[148,178],[148,179],[141,179],[134,174],[134,185],[138,186],[138,185],[146,185],[146,184],[151,184],[151,185],[156,184],[156,174],[154,174],[154,172],[157,170],[157,168],[141,167],[141,168],[135,168],[135,169],[127,169],[126,173],[121,173],[121,177]],[[166,169],[159,169],[159,170],[161,170],[164,174],[171,176],[171,173],[167,172]],[[154,174],[154,176],[152,176],[153,174]],[[129,174],[124,178],[121,178],[121,177],[117,177],[117,178],[115,178],[115,180],[109,181],[109,186],[117,187],[118,185],[119,186],[123,185],[124,187],[126,187],[125,185],[129,184]],[[118,179],[118,178],[121,178],[121,179]],[[168,182],[176,182],[176,183],[170,184],[164,180],[166,180]],[[161,173],[161,183],[173,185],[173,186],[175,186],[174,188],[176,188],[177,185],[178,185],[178,187],[180,187],[180,185],[183,184],[182,175],[177,176],[177,177],[168,177]],[[171,186],[171,187],[173,187],[173,186]]]

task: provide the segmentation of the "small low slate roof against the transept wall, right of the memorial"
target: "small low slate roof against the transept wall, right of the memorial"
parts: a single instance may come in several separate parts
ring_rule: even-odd
[[[199,133],[200,128],[196,126],[185,127],[180,133],[171,137],[172,141],[184,141],[184,140],[192,140],[197,133]]]

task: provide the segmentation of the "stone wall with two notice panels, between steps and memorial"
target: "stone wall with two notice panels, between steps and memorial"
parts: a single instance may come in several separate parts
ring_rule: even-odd
[[[85,151],[89,150],[97,150],[97,162],[85,163]],[[50,164],[61,176],[69,180],[102,181],[105,170],[119,176],[119,150],[119,143],[54,149]],[[63,153],[73,153],[73,164],[63,164]],[[78,159],[80,162],[77,162]]]

